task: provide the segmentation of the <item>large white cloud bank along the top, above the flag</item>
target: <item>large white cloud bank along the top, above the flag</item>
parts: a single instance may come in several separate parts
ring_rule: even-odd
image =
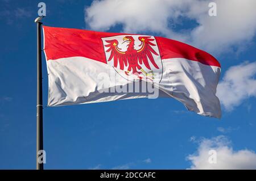
[[[217,3],[217,16],[208,15],[209,2]],[[85,22],[100,31],[121,24],[124,32],[158,32],[220,53],[253,39],[255,7],[255,0],[96,0],[85,9]],[[174,27],[182,24],[183,18],[198,25],[175,32]]]

